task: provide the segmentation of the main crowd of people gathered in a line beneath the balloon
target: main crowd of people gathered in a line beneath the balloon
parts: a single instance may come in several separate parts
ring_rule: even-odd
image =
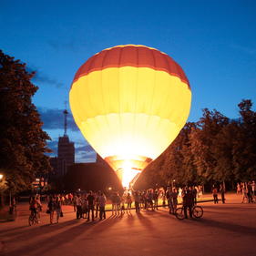
[[[77,220],[87,219],[94,221],[106,219],[107,201],[111,205],[112,215],[124,214],[130,212],[134,205],[137,213],[140,210],[159,210],[159,201],[163,207],[169,208],[169,213],[174,214],[179,200],[183,206],[191,212],[191,208],[197,203],[197,198],[202,195],[199,187],[184,187],[165,189],[147,189],[147,190],[125,190],[123,193],[113,191],[106,195],[102,191],[83,191],[79,193],[67,193],[51,195],[46,197],[46,213],[49,214],[50,223],[58,223],[59,218],[63,217],[62,206],[72,205],[76,212]],[[179,199],[180,198],[180,199]],[[36,214],[40,221],[40,212],[42,203],[40,196],[36,195],[29,200],[31,213]],[[186,210],[187,213],[187,210]]]

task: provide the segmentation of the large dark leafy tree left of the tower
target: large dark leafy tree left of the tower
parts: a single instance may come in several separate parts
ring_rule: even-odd
[[[0,169],[8,189],[28,189],[36,173],[51,169],[46,148],[50,139],[31,98],[38,87],[26,64],[0,51]]]

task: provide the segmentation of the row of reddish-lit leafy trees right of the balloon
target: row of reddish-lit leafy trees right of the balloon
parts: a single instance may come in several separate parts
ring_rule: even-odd
[[[249,99],[238,107],[238,119],[203,109],[202,118],[187,123],[169,148],[148,165],[136,187],[167,186],[173,179],[183,185],[255,179],[256,112]]]

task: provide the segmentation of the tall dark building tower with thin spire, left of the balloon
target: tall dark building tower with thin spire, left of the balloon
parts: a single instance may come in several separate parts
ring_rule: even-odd
[[[57,175],[65,175],[67,168],[75,163],[75,146],[74,142],[69,141],[67,136],[67,109],[64,114],[64,135],[58,138],[57,147]]]

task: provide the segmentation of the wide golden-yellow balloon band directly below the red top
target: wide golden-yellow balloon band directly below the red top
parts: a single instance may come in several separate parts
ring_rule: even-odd
[[[73,102],[76,101],[73,107]],[[76,122],[108,113],[145,113],[183,123],[191,92],[179,77],[148,67],[109,67],[80,77],[70,91]],[[75,109],[74,109],[75,110]],[[76,114],[75,114],[76,115]]]

